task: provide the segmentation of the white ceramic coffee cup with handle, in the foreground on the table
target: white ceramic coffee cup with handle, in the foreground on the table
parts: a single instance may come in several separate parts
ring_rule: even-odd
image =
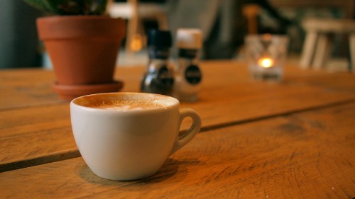
[[[100,107],[118,102],[158,107]],[[151,176],[200,130],[198,113],[179,105],[176,98],[152,93],[99,93],[75,98],[70,103],[70,116],[80,154],[102,178],[128,181]],[[186,117],[192,118],[192,125],[179,136]]]

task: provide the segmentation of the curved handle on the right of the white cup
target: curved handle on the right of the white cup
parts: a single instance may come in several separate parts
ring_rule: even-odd
[[[192,118],[192,125],[187,132],[183,135],[178,136],[175,140],[173,149],[170,152],[170,155],[184,147],[187,143],[189,143],[200,131],[202,120],[200,115],[191,108],[180,108],[180,122],[179,122],[179,130],[182,124],[182,120],[185,118],[190,117]]]

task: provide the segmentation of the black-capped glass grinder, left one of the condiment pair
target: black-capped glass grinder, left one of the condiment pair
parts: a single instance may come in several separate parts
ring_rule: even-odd
[[[168,64],[172,36],[168,30],[148,30],[148,67],[141,81],[141,91],[171,96],[174,72]]]

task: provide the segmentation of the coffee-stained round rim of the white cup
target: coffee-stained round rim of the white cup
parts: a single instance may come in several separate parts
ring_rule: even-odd
[[[77,101],[79,101],[82,98],[90,98],[93,96],[125,96],[125,95],[136,95],[136,96],[155,96],[159,99],[162,98],[167,98],[168,104],[163,105],[161,107],[157,107],[157,108],[148,108],[148,109],[144,109],[144,110],[123,110],[123,111],[117,111],[114,109],[104,109],[104,108],[95,108],[95,107],[89,107],[89,106],[84,106],[80,103],[78,103]],[[140,92],[112,92],[112,93],[94,93],[94,94],[89,94],[89,95],[85,95],[85,96],[79,96],[77,98],[72,99],[72,101],[70,101],[70,106],[77,106],[79,108],[82,109],[87,109],[87,110],[96,110],[96,111],[105,111],[105,112],[115,112],[115,113],[142,113],[142,112],[148,112],[148,111],[156,111],[156,110],[168,110],[174,107],[178,107],[180,106],[180,102],[178,101],[177,98],[173,98],[172,96],[165,96],[165,95],[161,95],[161,94],[157,94],[157,93],[140,93]]]

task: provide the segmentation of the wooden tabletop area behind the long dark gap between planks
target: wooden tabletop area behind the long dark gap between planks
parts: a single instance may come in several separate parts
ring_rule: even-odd
[[[287,67],[285,81],[270,84],[250,79],[246,65],[239,62],[204,62],[202,69],[200,100],[181,103],[200,113],[202,131],[355,99],[354,74]],[[116,70],[116,79],[125,82],[124,91],[138,91],[143,70],[122,67]],[[69,102],[53,93],[52,81],[51,72],[38,69],[0,72],[0,88],[6,93],[0,98],[0,172],[80,156],[72,137]],[[188,125],[184,123],[182,130]]]

